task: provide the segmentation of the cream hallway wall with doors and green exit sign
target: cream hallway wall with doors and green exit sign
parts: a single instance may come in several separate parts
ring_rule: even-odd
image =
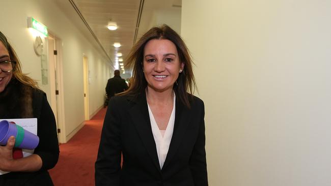
[[[69,1],[65,3],[71,8]],[[62,131],[65,131],[65,135],[68,136],[84,122],[83,55],[88,57],[90,68],[90,113],[94,113],[103,105],[104,87],[113,68],[108,64],[107,58],[92,36],[87,38],[82,34],[82,30],[75,26],[77,23],[73,24],[55,1],[12,0],[2,2],[2,7],[0,29],[8,36],[21,59],[23,72],[30,73],[32,78],[41,80],[41,59],[34,52],[34,38],[27,29],[26,18],[34,17],[45,24],[53,35],[61,39],[66,125]],[[48,85],[42,85],[41,81],[39,85],[49,94]]]

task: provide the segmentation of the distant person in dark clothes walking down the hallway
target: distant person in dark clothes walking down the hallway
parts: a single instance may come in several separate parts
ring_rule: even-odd
[[[125,79],[122,79],[120,76],[120,71],[114,71],[114,77],[108,79],[106,85],[106,101],[105,106],[108,104],[108,100],[111,99],[115,94],[123,92],[124,90],[128,89],[128,85],[125,82]]]

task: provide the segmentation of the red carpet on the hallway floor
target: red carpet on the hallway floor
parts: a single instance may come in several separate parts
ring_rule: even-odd
[[[94,163],[105,113],[106,108],[102,108],[74,137],[60,144],[59,162],[49,170],[54,185],[94,185]]]

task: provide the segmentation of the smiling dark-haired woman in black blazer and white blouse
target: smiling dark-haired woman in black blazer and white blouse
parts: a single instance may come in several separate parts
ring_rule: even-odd
[[[204,103],[192,95],[197,87],[183,40],[167,25],[153,27],[126,63],[133,81],[109,100],[96,185],[208,185]]]

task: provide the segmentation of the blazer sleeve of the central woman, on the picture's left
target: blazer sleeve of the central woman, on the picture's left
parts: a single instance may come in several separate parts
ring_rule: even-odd
[[[116,97],[109,100],[103,122],[97,161],[95,162],[95,185],[120,185],[121,140],[120,118]]]

